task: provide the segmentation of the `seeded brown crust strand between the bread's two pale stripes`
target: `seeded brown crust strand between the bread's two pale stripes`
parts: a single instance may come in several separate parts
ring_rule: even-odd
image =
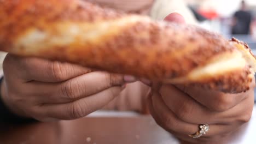
[[[183,35],[182,32],[185,31],[186,35]],[[146,33],[148,37],[138,37],[137,33]],[[117,35],[102,40],[98,45],[73,45],[74,57],[69,61],[147,79],[172,79],[185,76],[194,68],[203,66],[211,57],[234,50],[228,41],[217,37],[221,36],[199,28],[177,27],[171,23],[159,26],[155,22],[138,22],[127,26]],[[179,43],[181,40],[184,43]],[[55,47],[39,53],[60,61],[67,61],[71,55],[66,47]]]

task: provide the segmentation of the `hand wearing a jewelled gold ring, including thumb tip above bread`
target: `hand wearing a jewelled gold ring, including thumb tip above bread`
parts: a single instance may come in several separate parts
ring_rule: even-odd
[[[181,15],[171,14],[166,21],[184,23]],[[254,106],[255,80],[246,93],[225,94],[204,91],[200,87],[159,85],[154,83],[148,97],[150,113],[155,121],[185,143],[220,143],[231,131],[249,121]],[[210,130],[192,139],[200,124]]]

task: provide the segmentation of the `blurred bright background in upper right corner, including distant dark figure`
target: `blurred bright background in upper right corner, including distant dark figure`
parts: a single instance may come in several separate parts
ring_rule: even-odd
[[[185,0],[200,26],[246,41],[256,52],[255,0]]]

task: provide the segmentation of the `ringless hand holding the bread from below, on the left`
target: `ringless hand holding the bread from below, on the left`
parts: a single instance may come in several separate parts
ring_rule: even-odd
[[[69,63],[14,55],[7,55],[3,70],[1,90],[7,107],[39,121],[84,117],[107,105],[125,82],[133,81]]]

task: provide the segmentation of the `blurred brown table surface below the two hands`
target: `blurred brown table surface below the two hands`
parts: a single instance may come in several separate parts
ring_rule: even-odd
[[[256,108],[256,107],[255,107]],[[255,143],[256,113],[225,143]],[[75,121],[1,125],[3,144],[179,143],[149,116],[87,117]]]

